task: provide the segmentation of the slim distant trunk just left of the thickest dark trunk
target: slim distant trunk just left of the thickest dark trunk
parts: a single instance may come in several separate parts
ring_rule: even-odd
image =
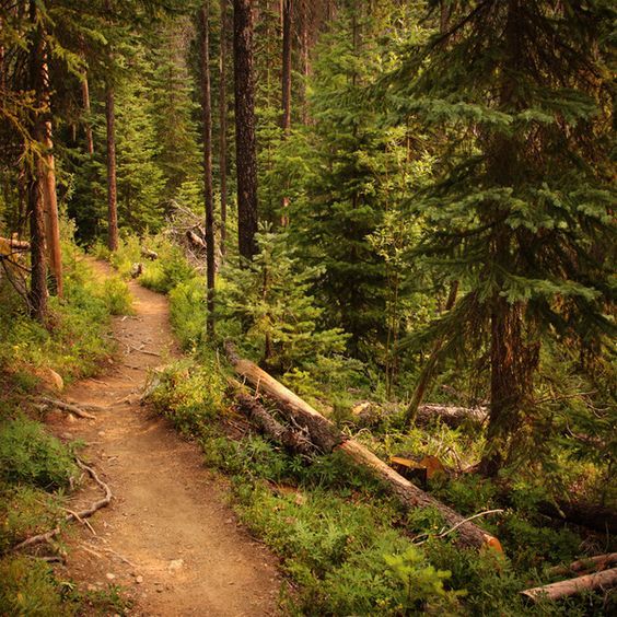
[[[219,174],[221,177],[221,255],[228,236],[228,0],[220,0],[221,47],[219,51]]]

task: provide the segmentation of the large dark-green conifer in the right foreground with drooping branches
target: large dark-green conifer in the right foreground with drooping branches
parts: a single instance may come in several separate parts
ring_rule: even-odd
[[[481,467],[494,474],[522,454],[522,440],[545,440],[534,430],[543,339],[597,353],[614,328],[603,50],[614,10],[568,0],[451,7],[446,32],[408,48],[389,93],[450,137],[415,199],[429,221],[418,254],[461,281],[429,334],[443,339],[441,356],[466,353],[489,370]]]

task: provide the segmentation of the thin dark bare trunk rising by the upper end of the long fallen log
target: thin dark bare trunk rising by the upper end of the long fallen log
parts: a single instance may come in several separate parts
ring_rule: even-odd
[[[214,202],[212,197],[212,104],[210,94],[210,2],[199,12],[201,26],[201,119],[203,124],[203,196],[206,200],[206,280],[208,286],[208,333],[214,335]]]

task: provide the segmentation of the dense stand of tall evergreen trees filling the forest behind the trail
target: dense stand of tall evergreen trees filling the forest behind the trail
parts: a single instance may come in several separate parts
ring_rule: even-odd
[[[584,461],[614,505],[616,20],[0,0],[2,293],[53,330],[71,230],[171,243],[185,342],[233,339],[337,421],[360,398],[403,434],[426,403],[480,408],[475,472],[557,499]]]

